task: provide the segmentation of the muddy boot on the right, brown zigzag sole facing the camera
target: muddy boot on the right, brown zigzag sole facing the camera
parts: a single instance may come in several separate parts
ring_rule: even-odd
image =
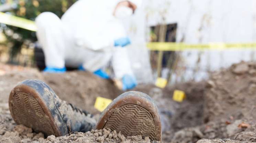
[[[96,129],[111,129],[126,137],[141,135],[161,141],[157,106],[142,92],[130,91],[117,97],[101,114]]]

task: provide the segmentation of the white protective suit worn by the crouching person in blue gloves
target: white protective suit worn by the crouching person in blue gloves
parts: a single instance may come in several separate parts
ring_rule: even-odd
[[[112,60],[115,78],[132,75],[127,49],[114,47],[114,40],[127,37],[121,21],[113,16],[122,0],[79,0],[59,19],[44,12],[36,18],[37,38],[46,66],[65,65],[94,72]]]

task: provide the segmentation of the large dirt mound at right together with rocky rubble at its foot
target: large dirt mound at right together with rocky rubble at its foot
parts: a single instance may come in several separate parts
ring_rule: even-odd
[[[176,132],[171,142],[256,142],[256,63],[241,62],[215,72],[206,87],[204,124]]]

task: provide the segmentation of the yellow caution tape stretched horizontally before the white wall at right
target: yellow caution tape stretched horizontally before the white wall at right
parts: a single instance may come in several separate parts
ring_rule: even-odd
[[[185,44],[175,42],[149,42],[147,47],[152,51],[224,50],[256,48],[256,43]]]

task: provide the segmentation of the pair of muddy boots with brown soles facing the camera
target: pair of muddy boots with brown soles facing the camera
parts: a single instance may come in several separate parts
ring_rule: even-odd
[[[152,141],[160,141],[162,137],[157,106],[142,92],[130,91],[118,96],[96,123],[88,112],[60,100],[47,84],[26,80],[11,91],[9,109],[16,124],[46,136],[105,128],[121,131],[125,136],[149,137]]]

